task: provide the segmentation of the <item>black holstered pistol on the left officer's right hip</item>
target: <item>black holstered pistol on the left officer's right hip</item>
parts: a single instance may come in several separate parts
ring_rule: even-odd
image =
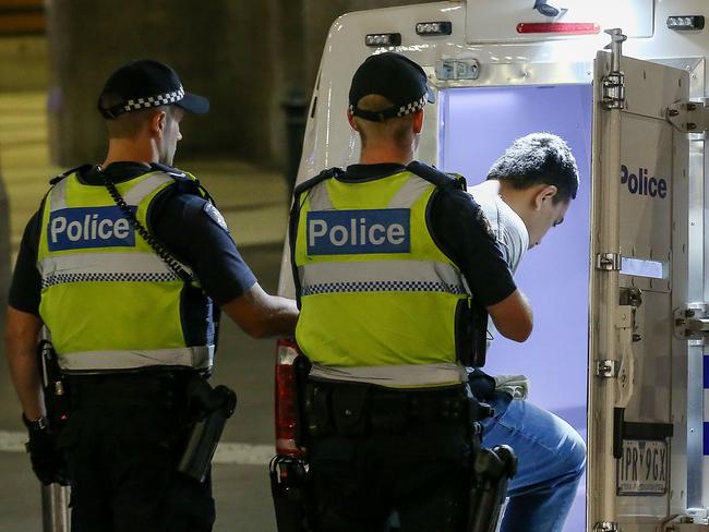
[[[194,421],[178,471],[204,482],[224,426],[237,408],[237,394],[223,385],[212,388],[202,375],[194,375],[187,397]]]

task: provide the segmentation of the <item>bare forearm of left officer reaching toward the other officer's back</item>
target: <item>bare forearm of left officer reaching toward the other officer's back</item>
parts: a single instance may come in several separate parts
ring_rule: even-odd
[[[248,292],[221,305],[221,310],[249,336],[293,336],[298,307],[293,300],[269,295],[256,282]]]

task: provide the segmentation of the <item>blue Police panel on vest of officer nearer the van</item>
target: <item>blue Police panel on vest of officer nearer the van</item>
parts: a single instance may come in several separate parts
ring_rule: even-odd
[[[409,253],[411,210],[313,210],[308,213],[309,255]]]

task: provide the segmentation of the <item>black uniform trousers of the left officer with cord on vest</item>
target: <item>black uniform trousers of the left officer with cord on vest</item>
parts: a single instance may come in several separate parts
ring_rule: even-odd
[[[211,480],[177,471],[189,423],[175,376],[70,379],[61,431],[71,476],[72,532],[208,532]]]

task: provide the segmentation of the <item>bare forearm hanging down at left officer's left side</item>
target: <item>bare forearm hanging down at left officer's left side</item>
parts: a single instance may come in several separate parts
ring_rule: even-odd
[[[41,319],[12,306],[8,307],[4,334],[10,377],[17,391],[22,410],[29,421],[46,414],[37,364],[37,342]]]

